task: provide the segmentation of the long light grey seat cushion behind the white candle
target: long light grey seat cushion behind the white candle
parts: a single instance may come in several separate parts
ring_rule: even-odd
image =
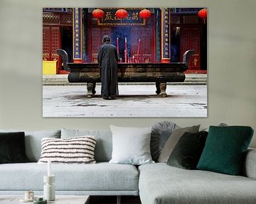
[[[137,168],[127,164],[52,164],[56,191],[138,191]],[[47,164],[1,164],[0,191],[43,191]]]

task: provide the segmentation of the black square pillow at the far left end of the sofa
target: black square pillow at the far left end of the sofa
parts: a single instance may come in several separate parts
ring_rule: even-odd
[[[0,164],[28,162],[24,132],[0,133]]]

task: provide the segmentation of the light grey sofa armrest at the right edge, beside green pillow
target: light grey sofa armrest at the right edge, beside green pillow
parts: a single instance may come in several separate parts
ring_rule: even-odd
[[[247,149],[245,154],[244,176],[256,179],[256,149]]]

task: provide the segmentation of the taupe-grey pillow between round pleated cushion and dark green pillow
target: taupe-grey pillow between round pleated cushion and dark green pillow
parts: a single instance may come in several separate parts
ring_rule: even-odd
[[[175,145],[177,144],[177,142],[181,138],[181,136],[185,132],[196,133],[196,132],[198,132],[199,128],[200,128],[200,125],[195,125],[192,127],[178,128],[178,129],[174,130],[174,132],[171,133],[171,136],[169,137],[166,144],[164,145],[164,149],[162,150],[158,161],[166,163],[171,155],[171,152],[173,151]]]

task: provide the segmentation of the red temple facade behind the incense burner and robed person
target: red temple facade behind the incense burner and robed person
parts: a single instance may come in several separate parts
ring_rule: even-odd
[[[196,50],[187,72],[207,72],[207,22],[198,17],[201,8],[122,8],[125,18],[117,18],[119,8],[100,8],[103,18],[95,18],[96,8],[43,8],[43,60],[57,61],[60,48],[68,52],[69,62],[95,62],[102,37],[110,35],[121,63],[182,62],[186,50]]]

